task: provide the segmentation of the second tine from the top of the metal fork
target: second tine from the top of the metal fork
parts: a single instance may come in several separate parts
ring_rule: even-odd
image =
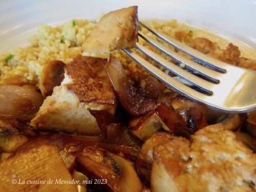
[[[168,48],[167,46],[165,46],[161,42],[158,42],[157,40],[149,37],[148,35],[145,35],[145,34],[140,32],[139,36],[142,37],[145,41],[147,41],[150,45],[154,46],[155,48],[157,48],[158,50],[160,50],[161,52],[166,54],[167,56],[175,59],[176,61],[178,61],[180,63],[184,63],[188,68],[192,69],[193,71],[196,71],[199,74],[201,74],[201,75],[219,83],[219,78],[218,77],[221,75],[221,73],[218,73],[218,72],[213,71],[211,69],[205,68],[205,67],[199,65],[198,63],[187,59],[186,57],[180,55],[179,53],[177,53],[174,50]]]

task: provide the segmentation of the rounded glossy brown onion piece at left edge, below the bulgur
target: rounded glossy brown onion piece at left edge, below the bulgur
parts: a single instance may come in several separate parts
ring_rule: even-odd
[[[0,117],[5,119],[31,120],[43,101],[34,86],[0,85]]]

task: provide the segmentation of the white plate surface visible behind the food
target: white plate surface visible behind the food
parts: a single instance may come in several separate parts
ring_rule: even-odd
[[[0,53],[25,45],[39,23],[55,25],[73,18],[95,19],[102,13],[131,5],[139,6],[140,19],[177,18],[221,31],[221,36],[224,34],[240,49],[255,52],[256,0],[12,0],[0,1]]]

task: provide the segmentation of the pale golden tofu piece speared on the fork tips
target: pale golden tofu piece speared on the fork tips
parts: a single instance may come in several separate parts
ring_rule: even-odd
[[[138,7],[131,6],[102,16],[86,37],[84,52],[104,54],[116,49],[131,48],[138,39]]]

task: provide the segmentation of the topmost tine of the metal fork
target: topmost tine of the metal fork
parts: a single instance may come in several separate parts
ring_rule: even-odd
[[[140,25],[144,28],[146,28],[148,31],[150,31],[151,33],[153,33],[154,35],[156,35],[158,38],[162,39],[163,41],[165,41],[167,44],[175,47],[176,49],[182,51],[183,53],[186,53],[187,55],[195,58],[196,60],[198,60],[201,63],[204,63],[207,66],[210,66],[212,68],[215,68],[223,73],[226,73],[226,69],[225,67],[227,66],[227,64],[225,62],[222,62],[216,58],[207,56],[193,48],[190,48],[184,44],[182,44],[181,42],[159,32],[156,30],[152,30],[149,27],[147,27],[145,24],[143,24],[142,22],[139,22]]]

